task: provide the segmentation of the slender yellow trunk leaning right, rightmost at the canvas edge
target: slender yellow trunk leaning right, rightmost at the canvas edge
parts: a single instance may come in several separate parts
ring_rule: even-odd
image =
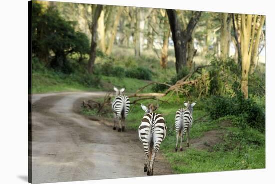
[[[261,18],[258,18],[258,21],[256,23],[256,29],[257,29],[257,35],[256,35],[256,40],[254,43],[254,47],[252,50],[252,58],[251,58],[251,69],[250,69],[250,73],[254,73],[255,71],[255,66],[256,63],[258,61],[258,57],[259,57],[259,43],[260,43],[260,38],[262,33],[262,27],[265,21],[265,16],[261,16]]]

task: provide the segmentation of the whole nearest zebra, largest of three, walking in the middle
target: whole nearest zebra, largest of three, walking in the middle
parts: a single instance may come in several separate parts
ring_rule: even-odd
[[[154,112],[157,110],[158,105],[149,104],[147,108],[141,104],[141,108],[145,111],[145,114],[138,128],[138,136],[144,147],[144,172],[147,172],[147,175],[153,175],[154,159],[161,142],[166,137],[167,126],[163,116]]]

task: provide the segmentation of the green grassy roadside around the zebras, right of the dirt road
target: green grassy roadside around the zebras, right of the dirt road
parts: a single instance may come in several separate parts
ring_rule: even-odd
[[[265,134],[250,127],[239,128],[238,119],[235,116],[211,120],[204,110],[203,100],[197,101],[194,107],[190,147],[187,148],[185,142],[184,151],[175,152],[174,116],[184,100],[171,99],[170,104],[159,102],[157,110],[165,117],[168,127],[168,135],[160,149],[175,173],[265,168]],[[142,101],[144,104],[150,102],[153,101]],[[82,111],[82,113],[96,115],[91,111]],[[140,105],[132,105],[126,120],[126,128],[137,131],[143,115]],[[111,121],[112,113],[105,114],[104,118]],[[208,132],[212,134],[209,135]],[[211,140],[214,136],[218,141]]]

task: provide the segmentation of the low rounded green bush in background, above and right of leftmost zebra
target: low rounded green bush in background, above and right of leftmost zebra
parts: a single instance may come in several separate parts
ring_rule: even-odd
[[[126,70],[126,76],[140,80],[151,80],[152,72],[148,68],[144,67],[130,68]]]

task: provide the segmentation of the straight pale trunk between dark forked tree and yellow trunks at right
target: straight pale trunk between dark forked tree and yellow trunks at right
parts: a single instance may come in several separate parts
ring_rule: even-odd
[[[231,40],[231,27],[232,18],[229,13],[220,14],[221,28],[220,28],[220,46],[221,58],[226,59],[229,57],[230,40]]]

